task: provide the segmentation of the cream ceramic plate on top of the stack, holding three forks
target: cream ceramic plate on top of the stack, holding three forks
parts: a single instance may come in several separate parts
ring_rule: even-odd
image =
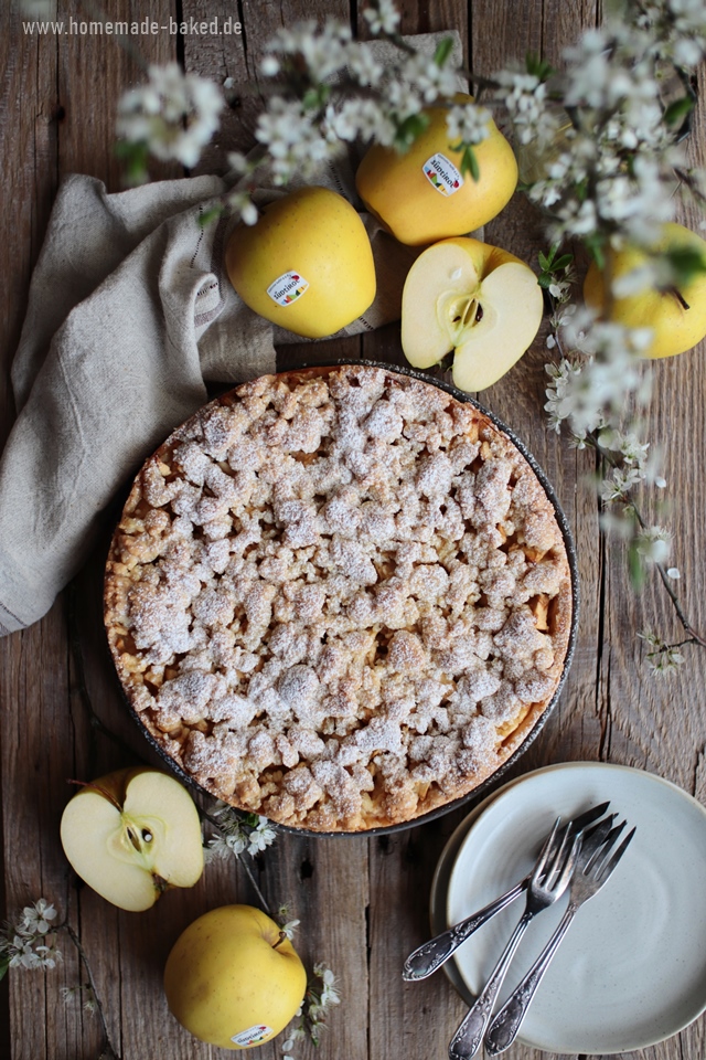
[[[640,770],[549,766],[513,781],[462,822],[435,877],[432,922],[454,858],[446,913],[447,923],[457,923],[527,873],[556,816],[576,816],[608,798],[638,830],[603,890],[579,910],[522,1025],[520,1040],[549,1052],[644,1049],[706,1009],[706,809]],[[501,1000],[566,903],[565,895],[531,924]],[[523,909],[521,898],[458,951],[456,969],[467,992],[482,988]]]

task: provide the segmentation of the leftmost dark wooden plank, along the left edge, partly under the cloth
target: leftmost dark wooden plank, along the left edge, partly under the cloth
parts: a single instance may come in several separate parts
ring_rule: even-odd
[[[24,33],[17,7],[2,12],[0,33],[0,153],[3,158],[6,202],[0,219],[0,444],[9,434],[14,401],[10,364],[26,307],[31,268],[36,261],[57,180],[56,42]],[[36,689],[41,661],[61,675],[61,615],[51,616],[32,635],[14,635],[0,644],[0,713],[2,714],[3,880],[2,900],[14,910],[33,894],[42,879],[46,844],[38,836],[46,796],[46,770],[36,766],[51,740],[51,709],[26,709],[28,688]],[[47,657],[49,656],[49,657]],[[30,768],[30,762],[34,768]],[[43,765],[43,763],[42,763]],[[38,775],[39,774],[39,775]],[[8,797],[10,796],[10,797]],[[31,839],[29,838],[31,837]],[[50,856],[51,860],[51,856]],[[56,867],[54,860],[54,868]],[[47,875],[49,866],[47,866]],[[0,1052],[10,1053],[11,1026],[22,1027],[26,1010],[44,1011],[40,977],[2,992]],[[15,988],[20,987],[20,988]],[[10,1017],[11,1021],[10,1022]],[[44,1054],[44,1028],[26,1026],[25,1056]],[[68,1037],[67,1031],[61,1035]],[[15,1041],[17,1043],[17,1041]],[[36,1049],[34,1049],[36,1046]],[[24,1048],[24,1045],[22,1045]]]

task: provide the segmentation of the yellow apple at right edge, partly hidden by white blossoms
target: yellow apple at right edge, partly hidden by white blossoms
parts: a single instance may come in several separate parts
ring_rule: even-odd
[[[653,250],[681,247],[696,251],[706,261],[706,242],[699,235],[682,224],[664,224]],[[609,251],[606,272],[616,279],[644,265],[645,261],[645,252],[638,247]],[[602,311],[606,306],[605,274],[595,262],[586,274],[584,298],[592,309]],[[609,316],[627,328],[652,328],[652,341],[644,351],[645,357],[684,353],[706,336],[706,273],[699,273],[678,292],[650,287],[634,295],[614,297]]]

